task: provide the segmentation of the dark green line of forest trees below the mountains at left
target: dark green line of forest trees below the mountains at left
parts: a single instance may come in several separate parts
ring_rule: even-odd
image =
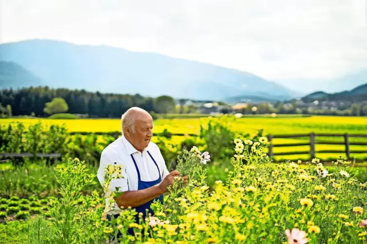
[[[46,104],[55,98],[62,98],[71,114],[88,114],[90,117],[118,118],[130,107],[138,106],[146,111],[168,113],[175,108],[175,101],[169,96],[157,98],[143,97],[139,94],[112,94],[70,90],[65,88],[28,87],[0,90],[0,107],[3,113],[13,116],[33,115],[45,117],[49,114]],[[1,112],[1,111],[0,111]]]

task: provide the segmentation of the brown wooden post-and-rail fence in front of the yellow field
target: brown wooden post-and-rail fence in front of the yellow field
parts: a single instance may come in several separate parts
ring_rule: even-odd
[[[309,142],[301,142],[301,143],[283,143],[283,144],[274,144],[274,138],[304,138],[308,137]],[[316,137],[343,137],[344,142],[338,141],[316,141]],[[349,138],[367,138],[367,134],[328,134],[328,133],[310,133],[310,134],[289,134],[289,135],[268,135],[268,139],[270,142],[269,146],[269,156],[281,156],[281,155],[300,155],[300,154],[309,154],[311,158],[314,158],[316,153],[343,153],[347,155],[347,158],[350,158],[350,154],[359,154],[359,153],[367,153],[366,150],[350,150],[350,145],[367,145],[367,142],[350,142]],[[324,144],[324,145],[344,145],[344,150],[315,150],[316,144]],[[274,153],[274,147],[294,147],[294,146],[309,146],[309,151],[296,151],[296,152],[280,152]]]

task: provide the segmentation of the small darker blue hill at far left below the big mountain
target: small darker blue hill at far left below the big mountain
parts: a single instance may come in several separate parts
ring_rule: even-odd
[[[34,74],[14,62],[0,61],[0,88],[42,86]]]

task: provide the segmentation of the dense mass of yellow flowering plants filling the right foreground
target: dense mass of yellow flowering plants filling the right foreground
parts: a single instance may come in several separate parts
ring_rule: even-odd
[[[306,165],[274,164],[265,146],[266,138],[236,139],[233,170],[212,188],[205,179],[208,156],[196,148],[183,150],[177,170],[189,175],[189,183],[183,186],[177,178],[164,205],[154,204],[154,216],[135,223],[138,213],[124,209],[110,225],[101,215],[78,211],[81,219],[95,218],[92,226],[79,225],[79,232],[86,236],[93,230],[86,243],[108,240],[118,231],[126,244],[367,242],[367,185],[350,173],[354,163],[338,159],[328,168],[333,173],[317,158]],[[109,167],[115,168],[107,169],[110,178],[122,170]],[[134,236],[126,235],[128,228]]]

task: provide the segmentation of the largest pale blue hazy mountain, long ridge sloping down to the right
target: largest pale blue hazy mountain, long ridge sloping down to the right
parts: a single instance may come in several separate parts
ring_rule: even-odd
[[[288,88],[248,72],[109,46],[27,40],[1,44],[0,60],[21,65],[50,87],[199,100],[293,97]]]

